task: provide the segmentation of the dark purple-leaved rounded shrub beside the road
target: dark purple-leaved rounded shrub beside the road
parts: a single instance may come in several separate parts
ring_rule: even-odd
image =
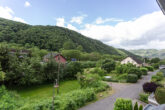
[[[158,85],[155,84],[154,82],[146,82],[143,84],[144,92],[155,92],[157,87]]]

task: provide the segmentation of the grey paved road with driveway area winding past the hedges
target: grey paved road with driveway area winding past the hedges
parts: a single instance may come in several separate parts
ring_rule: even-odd
[[[115,87],[117,90],[115,94],[112,96],[109,96],[107,98],[104,98],[102,100],[99,100],[95,103],[89,104],[85,107],[80,108],[79,110],[113,110],[113,105],[117,98],[130,98],[132,100],[139,97],[139,93],[142,92],[142,85],[150,81],[151,76],[153,74],[156,74],[155,72],[149,72],[149,75],[144,76],[141,80],[138,81],[136,84],[126,84],[126,86],[120,85],[120,87],[117,87],[118,85],[115,83],[112,83],[112,87]],[[115,84],[115,85],[114,85]]]

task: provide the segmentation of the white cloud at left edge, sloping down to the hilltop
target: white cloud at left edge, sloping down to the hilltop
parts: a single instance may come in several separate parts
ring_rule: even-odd
[[[10,19],[18,22],[26,23],[22,18],[14,16],[14,11],[9,7],[0,6],[0,17],[5,19]]]

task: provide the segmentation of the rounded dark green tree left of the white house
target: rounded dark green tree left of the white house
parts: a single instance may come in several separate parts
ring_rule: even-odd
[[[108,73],[115,69],[116,63],[114,60],[106,59],[102,62],[101,68],[106,70]]]

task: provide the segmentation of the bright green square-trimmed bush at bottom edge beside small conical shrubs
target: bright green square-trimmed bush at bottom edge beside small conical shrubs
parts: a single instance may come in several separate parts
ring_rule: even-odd
[[[118,98],[115,102],[114,110],[132,110],[132,101]]]

